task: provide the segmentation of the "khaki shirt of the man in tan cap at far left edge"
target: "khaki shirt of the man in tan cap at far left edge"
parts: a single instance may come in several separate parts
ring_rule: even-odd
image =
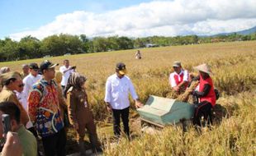
[[[2,102],[15,103],[21,111],[21,123],[26,126],[26,122],[28,122],[26,110],[22,107],[21,103],[17,99],[16,94],[12,90],[7,89],[5,86],[2,88],[2,92],[0,93],[0,103]]]

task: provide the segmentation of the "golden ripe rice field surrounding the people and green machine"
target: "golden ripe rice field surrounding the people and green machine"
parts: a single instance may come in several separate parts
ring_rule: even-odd
[[[106,155],[255,155],[256,154],[256,42],[197,44],[164,48],[144,48],[141,60],[135,60],[135,49],[107,53],[50,57],[62,64],[69,59],[79,72],[88,77],[86,88],[92,111],[97,120],[97,131],[105,145]],[[0,62],[0,67],[20,71],[21,64],[43,59]],[[198,135],[190,129],[167,127],[157,134],[141,133],[137,113],[131,106],[130,126],[134,139],[123,139],[114,148],[111,144],[111,115],[104,105],[105,82],[115,71],[116,62],[125,62],[137,94],[145,103],[150,94],[172,95],[168,74],[172,63],[179,60],[183,67],[193,71],[203,62],[211,66],[214,84],[220,90],[217,101],[226,109],[225,117],[211,131]],[[193,71],[195,72],[195,71]],[[69,130],[70,152],[76,150],[74,132]],[[86,139],[88,140],[88,139]],[[74,149],[73,149],[74,148]]]

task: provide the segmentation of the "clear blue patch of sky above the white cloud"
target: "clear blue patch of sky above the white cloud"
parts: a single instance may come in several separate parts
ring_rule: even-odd
[[[33,30],[73,11],[102,13],[149,0],[0,0],[0,39],[23,30]]]

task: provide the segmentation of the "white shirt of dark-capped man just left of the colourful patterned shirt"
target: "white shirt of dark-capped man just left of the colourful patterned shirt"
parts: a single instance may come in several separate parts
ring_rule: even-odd
[[[30,94],[32,85],[34,85],[41,78],[42,78],[42,76],[39,74],[37,76],[32,76],[31,74],[29,74],[22,80],[23,84],[24,84],[23,92],[26,95],[26,99],[28,98],[28,95]]]

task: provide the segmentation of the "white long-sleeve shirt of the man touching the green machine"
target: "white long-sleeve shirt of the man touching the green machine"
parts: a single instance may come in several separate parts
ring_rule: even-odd
[[[113,109],[124,109],[130,106],[129,92],[132,99],[138,99],[135,88],[128,76],[121,79],[113,74],[107,78],[105,102],[110,103]]]

